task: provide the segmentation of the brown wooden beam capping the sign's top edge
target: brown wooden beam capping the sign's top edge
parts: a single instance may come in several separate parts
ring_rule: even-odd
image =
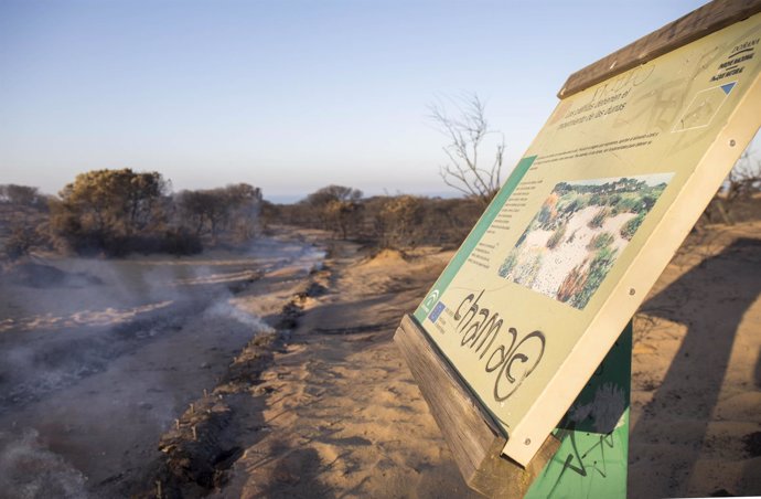
[[[569,97],[759,12],[761,0],[715,0],[577,71],[568,77],[558,97]]]

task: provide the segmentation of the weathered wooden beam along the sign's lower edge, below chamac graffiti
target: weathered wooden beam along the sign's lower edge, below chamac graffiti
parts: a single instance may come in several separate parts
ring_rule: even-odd
[[[468,486],[487,497],[522,498],[559,442],[548,436],[526,468],[502,456],[506,438],[412,316],[401,319],[394,341]]]

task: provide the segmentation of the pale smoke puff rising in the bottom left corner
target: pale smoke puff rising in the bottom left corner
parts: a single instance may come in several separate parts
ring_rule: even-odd
[[[0,433],[0,490],[9,499],[86,498],[85,477],[40,443],[36,431]]]

